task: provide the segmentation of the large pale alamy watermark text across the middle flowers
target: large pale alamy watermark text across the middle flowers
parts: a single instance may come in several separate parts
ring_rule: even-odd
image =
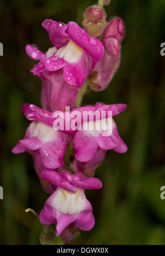
[[[91,111],[91,110],[72,110],[65,107],[65,112],[55,111],[53,113],[54,130],[75,131],[83,130],[93,135],[101,134],[102,136],[112,135],[112,111]]]

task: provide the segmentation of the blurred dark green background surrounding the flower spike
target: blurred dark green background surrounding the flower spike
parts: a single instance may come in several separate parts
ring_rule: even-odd
[[[0,244],[40,244],[42,225],[25,209],[37,214],[48,194],[43,191],[30,154],[12,154],[27,126],[21,105],[40,105],[41,80],[30,73],[35,65],[25,52],[36,44],[44,52],[51,47],[41,23],[47,18],[82,26],[85,9],[93,0],[1,0],[0,41]],[[83,104],[127,104],[114,120],[128,152],[108,151],[95,177],[101,190],[87,190],[93,206],[95,226],[81,231],[70,244],[165,244],[164,104],[165,42],[164,0],[112,0],[105,7],[107,18],[124,20],[119,70],[108,88],[84,97]]]

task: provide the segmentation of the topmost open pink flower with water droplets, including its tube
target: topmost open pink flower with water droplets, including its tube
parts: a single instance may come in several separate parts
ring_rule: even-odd
[[[31,72],[43,80],[42,108],[64,111],[65,106],[75,106],[79,88],[101,60],[104,47],[75,22],[45,20],[42,26],[54,47],[43,54],[35,45],[26,46],[27,55],[40,60]]]

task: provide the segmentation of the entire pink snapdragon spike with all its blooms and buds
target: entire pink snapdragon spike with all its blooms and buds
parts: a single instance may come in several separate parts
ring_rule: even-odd
[[[31,123],[25,137],[12,150],[16,154],[29,151],[34,157],[42,187],[51,194],[39,219],[43,225],[56,223],[56,235],[62,235],[64,242],[72,240],[70,225],[84,231],[94,227],[92,206],[84,190],[102,188],[102,182],[94,173],[106,151],[127,151],[113,119],[112,132],[106,136],[103,136],[103,129],[64,127],[60,130],[54,127],[57,120],[54,113],[58,111],[64,114],[65,120],[68,114],[71,122],[73,111],[78,111],[81,117],[83,111],[93,114],[111,111],[114,116],[127,108],[125,104],[99,102],[95,106],[76,105],[84,83],[87,82],[91,90],[106,89],[119,66],[120,44],[124,38],[122,20],[113,17],[106,22],[106,14],[98,6],[86,10],[83,25],[84,29],[75,22],[64,24],[47,19],[42,26],[50,36],[52,47],[45,54],[35,45],[26,46],[27,55],[38,61],[31,73],[42,79],[42,107],[23,104],[23,112]],[[64,112],[66,107],[70,108],[70,113]],[[105,123],[107,119],[105,115]],[[94,120],[95,124],[97,121]],[[85,124],[89,123],[90,120],[86,120]],[[68,164],[65,155],[70,146]]]

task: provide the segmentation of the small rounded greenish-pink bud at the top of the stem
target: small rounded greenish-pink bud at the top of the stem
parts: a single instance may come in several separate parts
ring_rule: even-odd
[[[106,26],[106,13],[98,6],[89,7],[84,13],[83,25],[87,33],[98,38]]]

